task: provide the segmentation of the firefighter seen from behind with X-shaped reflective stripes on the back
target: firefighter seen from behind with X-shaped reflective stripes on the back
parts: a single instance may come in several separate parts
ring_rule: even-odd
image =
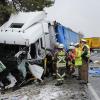
[[[56,76],[57,76],[57,83],[56,86],[62,85],[64,76],[65,76],[65,69],[66,69],[66,52],[64,50],[64,45],[59,44],[58,51],[55,54],[54,59],[56,60]]]

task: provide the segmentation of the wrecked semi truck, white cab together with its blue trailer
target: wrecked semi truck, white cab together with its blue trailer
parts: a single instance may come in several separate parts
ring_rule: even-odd
[[[71,42],[79,42],[82,36],[56,21],[46,20],[44,11],[14,13],[0,27],[0,60],[12,70],[22,53],[26,52],[26,58],[21,59],[41,60],[56,42],[63,43],[67,50]]]

